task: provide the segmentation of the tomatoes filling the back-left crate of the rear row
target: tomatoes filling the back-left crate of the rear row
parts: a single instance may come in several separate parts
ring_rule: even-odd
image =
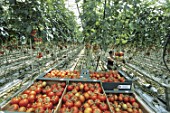
[[[52,70],[45,75],[45,78],[69,78],[69,79],[79,79],[80,73],[78,71],[61,71]]]

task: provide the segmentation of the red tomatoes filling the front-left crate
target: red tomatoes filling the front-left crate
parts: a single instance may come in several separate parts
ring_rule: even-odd
[[[10,101],[8,111],[51,113],[57,106],[66,87],[65,82],[47,84],[45,81],[35,82],[21,95]]]

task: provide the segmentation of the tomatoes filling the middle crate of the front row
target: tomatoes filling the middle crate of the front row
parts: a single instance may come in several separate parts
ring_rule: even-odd
[[[71,83],[59,113],[111,113],[100,83]]]

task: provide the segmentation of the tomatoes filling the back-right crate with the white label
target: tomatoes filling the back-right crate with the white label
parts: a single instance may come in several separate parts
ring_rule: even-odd
[[[120,76],[118,71],[90,72],[90,78],[101,80],[102,82],[125,82],[125,78]]]

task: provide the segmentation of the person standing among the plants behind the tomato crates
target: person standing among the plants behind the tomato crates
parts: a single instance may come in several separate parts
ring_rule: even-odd
[[[107,57],[107,69],[116,70],[116,64],[114,61],[114,52],[109,51],[109,57]]]

